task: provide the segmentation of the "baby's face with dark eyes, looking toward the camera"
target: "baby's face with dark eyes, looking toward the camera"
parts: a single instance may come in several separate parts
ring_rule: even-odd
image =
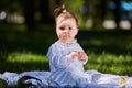
[[[75,19],[58,19],[56,21],[56,33],[61,42],[70,44],[78,33]]]

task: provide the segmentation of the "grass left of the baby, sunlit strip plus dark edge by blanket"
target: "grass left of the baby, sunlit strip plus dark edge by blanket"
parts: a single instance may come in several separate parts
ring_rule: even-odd
[[[0,62],[0,72],[22,73],[29,70],[50,70],[48,59],[45,55],[31,52],[14,52]]]

